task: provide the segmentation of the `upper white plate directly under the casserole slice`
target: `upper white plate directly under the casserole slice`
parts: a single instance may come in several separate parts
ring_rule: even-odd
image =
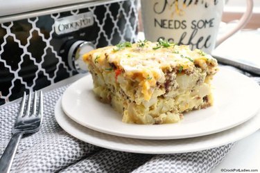
[[[68,87],[62,95],[62,109],[80,125],[106,134],[175,139],[203,136],[235,127],[252,118],[260,108],[260,87],[245,75],[220,68],[213,86],[214,106],[184,113],[184,119],[175,124],[135,125],[121,122],[119,113],[95,97],[91,75]]]

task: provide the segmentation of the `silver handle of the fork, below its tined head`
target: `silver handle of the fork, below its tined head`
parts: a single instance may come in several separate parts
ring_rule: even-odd
[[[23,136],[22,133],[13,134],[3,155],[0,158],[0,173],[10,172],[12,161],[15,158],[15,153],[18,148],[19,141]]]

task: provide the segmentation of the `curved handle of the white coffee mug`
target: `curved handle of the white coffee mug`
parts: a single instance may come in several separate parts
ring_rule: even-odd
[[[236,25],[236,27],[232,28],[232,30],[229,30],[227,33],[225,33],[223,36],[221,36],[216,41],[215,48],[220,45],[222,42],[224,42],[228,37],[234,35],[237,31],[239,31],[241,28],[243,28],[246,24],[248,24],[249,19],[252,16],[252,10],[253,10],[253,0],[247,0],[247,8],[241,19],[239,19],[239,23]]]

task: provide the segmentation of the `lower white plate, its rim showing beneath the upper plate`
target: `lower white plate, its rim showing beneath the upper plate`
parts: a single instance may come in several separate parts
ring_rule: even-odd
[[[196,138],[173,140],[146,140],[135,138],[123,138],[94,131],[71,120],[62,111],[61,101],[58,100],[55,107],[55,118],[65,131],[72,136],[87,143],[114,149],[122,152],[135,152],[144,154],[174,154],[184,152],[196,152],[203,149],[219,147],[245,138],[259,129],[260,113],[247,122],[216,134],[200,136]]]

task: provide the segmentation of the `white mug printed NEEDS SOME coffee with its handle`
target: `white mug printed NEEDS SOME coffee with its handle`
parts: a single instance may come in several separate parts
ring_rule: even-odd
[[[145,38],[165,39],[177,44],[189,44],[207,53],[248,23],[253,1],[247,0],[247,10],[236,27],[218,40],[218,28],[225,0],[141,0]]]

